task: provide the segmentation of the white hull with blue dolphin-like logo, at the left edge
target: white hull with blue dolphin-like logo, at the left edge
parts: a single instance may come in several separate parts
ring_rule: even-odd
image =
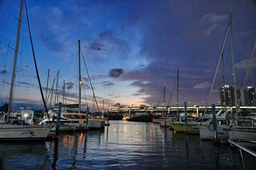
[[[46,139],[50,127],[21,127],[0,125],[0,140],[42,140]]]

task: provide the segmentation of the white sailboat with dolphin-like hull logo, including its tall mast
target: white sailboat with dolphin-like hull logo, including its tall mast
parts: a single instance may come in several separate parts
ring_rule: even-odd
[[[20,0],[20,11],[17,27],[17,37],[15,46],[14,63],[12,69],[12,82],[9,95],[9,105],[8,112],[5,121],[0,123],[0,141],[5,140],[42,140],[46,139],[49,133],[50,127],[37,127],[29,125],[24,119],[12,119],[10,117],[12,96],[13,96],[13,86],[15,79],[15,69],[17,61],[17,52],[19,45],[19,35],[20,35],[20,23],[22,14],[23,0]]]

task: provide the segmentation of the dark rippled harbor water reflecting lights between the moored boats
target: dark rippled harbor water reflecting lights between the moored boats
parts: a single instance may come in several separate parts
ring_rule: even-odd
[[[151,122],[110,121],[103,130],[61,133],[59,142],[2,142],[0,170],[237,170],[236,148]],[[243,153],[246,169],[256,159]]]

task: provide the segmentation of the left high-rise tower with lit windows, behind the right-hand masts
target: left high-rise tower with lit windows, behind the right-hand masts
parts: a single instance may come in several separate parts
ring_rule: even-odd
[[[234,97],[234,88],[230,87],[229,85],[224,85],[224,87],[219,89],[220,94],[220,104],[222,106],[235,106],[235,97]],[[239,102],[239,99],[241,97],[240,89],[236,89],[236,99],[237,103]],[[226,100],[225,100],[226,98]],[[241,105],[241,102],[240,102]]]

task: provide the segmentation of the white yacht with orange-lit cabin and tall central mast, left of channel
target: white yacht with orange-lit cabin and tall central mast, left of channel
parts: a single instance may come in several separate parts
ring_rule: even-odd
[[[78,40],[78,49],[79,49],[79,104],[78,111],[73,111],[72,113],[68,112],[67,108],[70,108],[72,105],[63,105],[61,111],[61,123],[64,125],[75,125],[76,130],[84,130],[84,129],[100,129],[101,127],[105,127],[105,120],[101,119],[88,119],[87,122],[87,114],[81,113],[81,66],[80,66],[80,39]],[[75,106],[75,107],[74,107]],[[77,104],[73,105],[72,108],[77,108]],[[89,112],[89,109],[87,109]],[[53,118],[44,119],[38,125],[47,125],[52,122]],[[54,122],[54,121],[53,121]]]

